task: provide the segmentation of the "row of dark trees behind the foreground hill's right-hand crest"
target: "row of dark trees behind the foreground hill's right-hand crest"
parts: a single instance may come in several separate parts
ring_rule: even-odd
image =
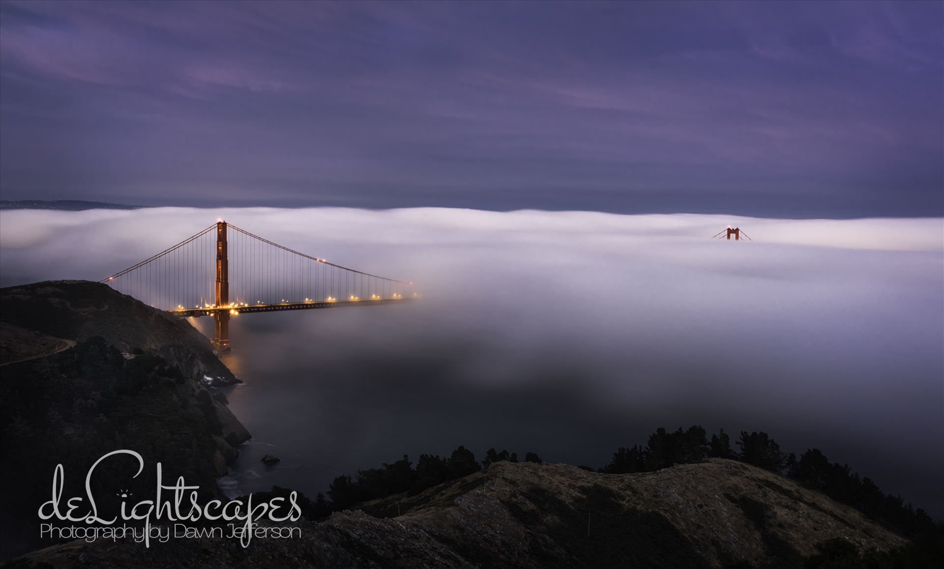
[[[741,460],[777,474],[798,480],[804,486],[827,494],[837,502],[861,510],[869,518],[880,521],[909,535],[918,535],[934,527],[931,517],[902,496],[884,494],[868,477],[859,477],[848,464],[830,462],[814,448],[802,453],[785,454],[780,445],[766,432],[741,431],[734,450],[724,429],[707,438],[705,429],[696,425],[673,432],[660,427],[649,435],[646,446],[620,447],[613,460],[598,472],[627,474],[651,472],[673,464],[699,462],[707,458]]]

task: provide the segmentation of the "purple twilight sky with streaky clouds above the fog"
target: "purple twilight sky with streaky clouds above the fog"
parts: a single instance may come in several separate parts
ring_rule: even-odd
[[[0,193],[944,214],[944,3],[0,2]]]

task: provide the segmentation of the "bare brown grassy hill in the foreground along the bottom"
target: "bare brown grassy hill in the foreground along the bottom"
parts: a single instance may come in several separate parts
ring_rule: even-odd
[[[765,470],[710,460],[636,475],[560,464],[497,462],[412,497],[390,496],[301,536],[73,542],[11,566],[39,567],[797,567],[834,537],[879,549],[904,540]],[[79,561],[82,560],[82,561]],[[132,561],[133,560],[133,561]]]

